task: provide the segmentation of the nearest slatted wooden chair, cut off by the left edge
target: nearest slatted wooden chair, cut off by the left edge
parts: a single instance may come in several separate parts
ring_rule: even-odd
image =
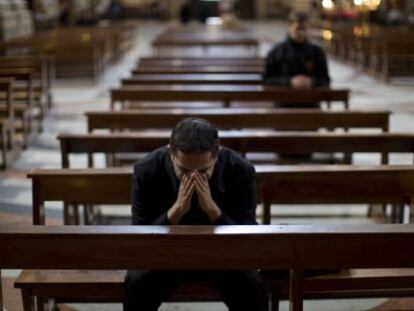
[[[14,151],[14,110],[13,110],[14,79],[0,78],[1,107],[5,114],[0,118],[1,168],[6,169],[9,162],[9,150]],[[4,98],[4,99],[3,99]]]

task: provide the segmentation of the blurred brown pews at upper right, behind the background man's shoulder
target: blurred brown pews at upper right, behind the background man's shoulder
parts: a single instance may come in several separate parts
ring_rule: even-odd
[[[413,27],[324,22],[314,37],[332,55],[384,81],[414,76]]]

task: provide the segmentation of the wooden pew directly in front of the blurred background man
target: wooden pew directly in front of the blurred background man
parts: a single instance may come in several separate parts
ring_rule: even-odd
[[[318,88],[292,90],[253,85],[142,85],[124,86],[111,90],[111,109],[117,102],[139,101],[219,101],[230,107],[232,101],[278,101],[302,103],[304,98],[311,103],[340,103],[349,108],[349,90]]]

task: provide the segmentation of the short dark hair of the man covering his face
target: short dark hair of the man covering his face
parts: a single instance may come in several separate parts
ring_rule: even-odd
[[[186,154],[219,150],[218,130],[208,121],[197,118],[183,119],[175,126],[170,138],[170,151]]]

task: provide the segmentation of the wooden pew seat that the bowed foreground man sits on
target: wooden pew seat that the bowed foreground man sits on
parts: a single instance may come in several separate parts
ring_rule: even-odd
[[[24,270],[14,283],[23,300],[40,297],[47,303],[122,302],[124,270]],[[265,286],[273,298],[288,299],[288,271],[263,272]],[[344,269],[338,273],[308,276],[306,299],[375,298],[414,295],[414,269]],[[85,296],[85,290],[88,296]],[[169,301],[219,301],[218,292],[208,283],[183,283]]]

